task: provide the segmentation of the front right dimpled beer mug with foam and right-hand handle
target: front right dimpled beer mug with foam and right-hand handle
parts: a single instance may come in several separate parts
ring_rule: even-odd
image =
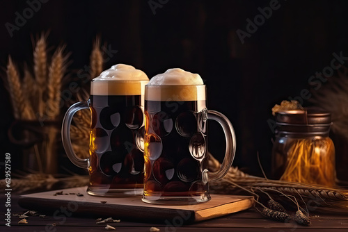
[[[226,154],[217,172],[207,170],[207,119],[219,122],[226,136]],[[228,172],[235,148],[232,124],[207,110],[206,88],[198,74],[168,69],[145,85],[144,202],[209,201],[208,182]]]

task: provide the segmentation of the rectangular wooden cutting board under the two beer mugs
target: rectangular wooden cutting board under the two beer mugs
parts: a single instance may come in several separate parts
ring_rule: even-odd
[[[86,193],[86,187],[79,187],[22,195],[18,204],[22,208],[39,212],[56,213],[58,211],[58,213],[64,213],[64,210],[67,210],[68,215],[73,213],[74,215],[82,214],[96,218],[104,216],[114,219],[131,219],[132,221],[137,219],[159,223],[175,219],[184,224],[246,210],[254,204],[252,197],[210,195],[212,199],[201,204],[164,206],[146,204],[141,201],[141,196],[90,196]]]

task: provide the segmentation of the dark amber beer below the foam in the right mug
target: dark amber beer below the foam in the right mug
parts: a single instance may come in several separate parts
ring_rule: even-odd
[[[198,113],[204,104],[145,100],[145,197],[194,197],[207,192],[202,181],[208,161],[207,125]]]

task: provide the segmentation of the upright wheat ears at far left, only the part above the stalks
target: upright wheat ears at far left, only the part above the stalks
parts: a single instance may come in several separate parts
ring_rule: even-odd
[[[38,38],[33,49],[33,73],[24,65],[24,78],[9,56],[7,65],[7,85],[10,93],[13,114],[16,119],[45,121],[55,120],[59,115],[61,83],[65,75],[67,56],[63,48],[58,48],[48,63],[46,35]]]

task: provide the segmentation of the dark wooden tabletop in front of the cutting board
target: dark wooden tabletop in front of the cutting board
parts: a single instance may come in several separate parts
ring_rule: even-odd
[[[21,208],[17,201],[18,195],[12,194],[11,196],[11,213],[23,213],[24,209]],[[90,217],[81,217],[78,215],[70,215],[68,217],[62,217],[62,214],[46,215],[45,218],[30,217],[28,224],[17,224],[17,217],[12,216],[11,226],[5,225],[4,210],[6,198],[4,194],[1,194],[1,216],[0,216],[0,231],[106,231],[105,225],[95,224],[96,215]],[[228,216],[219,217],[215,219],[209,219],[196,224],[181,225],[180,221],[163,222],[163,223],[146,223],[146,222],[131,222],[122,220],[119,223],[111,223],[116,227],[116,231],[150,231],[150,227],[155,226],[160,231],[166,232],[180,232],[180,231],[277,231],[277,232],[300,232],[300,231],[348,231],[348,211],[341,213],[331,214],[317,214],[312,218],[312,226],[299,226],[294,223],[275,222],[267,219],[256,212],[254,209],[244,210],[239,213],[233,213]],[[56,226],[52,226],[56,223]]]

